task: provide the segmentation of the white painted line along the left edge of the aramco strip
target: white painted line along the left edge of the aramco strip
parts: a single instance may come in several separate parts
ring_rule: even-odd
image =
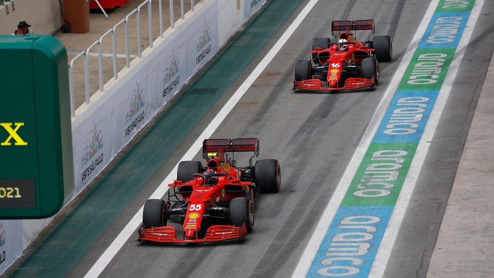
[[[396,70],[396,73],[393,75],[390,84],[387,86],[386,92],[384,93],[381,99],[381,102],[376,110],[376,113],[374,113],[374,116],[371,119],[369,127],[365,131],[364,136],[362,136],[362,140],[360,141],[359,146],[355,150],[354,155],[352,156],[350,162],[348,163],[348,166],[346,167],[345,172],[343,173],[343,176],[340,182],[338,183],[338,186],[334,191],[333,196],[331,197],[331,200],[326,206],[326,209],[323,215],[321,216],[319,223],[317,223],[315,231],[312,234],[309,243],[305,248],[304,253],[302,254],[302,257],[298,261],[295,270],[293,271],[292,278],[305,277],[307,272],[309,271],[309,268],[312,264],[312,260],[314,259],[317,250],[319,250],[319,247],[322,244],[324,236],[329,230],[329,225],[331,224],[334,215],[336,215],[336,212],[340,207],[343,197],[345,197],[345,194],[348,191],[348,187],[350,186],[352,179],[355,177],[355,174],[357,173],[357,170],[364,158],[365,153],[367,152],[367,149],[371,145],[374,135],[376,134],[379,128],[379,124],[381,123],[384,114],[387,110],[387,107],[389,106],[391,99],[393,98],[396,89],[398,88],[398,85],[401,79],[403,78],[403,75],[405,74],[405,71],[407,70],[408,64],[412,60],[413,54],[417,49],[420,39],[422,39],[422,36],[424,36],[429,21],[431,20],[432,15],[434,14],[434,10],[438,3],[439,0],[433,0],[429,8],[427,9],[427,12],[424,15],[424,18],[422,19],[422,22],[420,23],[417,31],[415,32],[415,35],[412,39],[412,44],[408,48],[407,53],[403,55],[403,58],[401,59],[401,62]]]

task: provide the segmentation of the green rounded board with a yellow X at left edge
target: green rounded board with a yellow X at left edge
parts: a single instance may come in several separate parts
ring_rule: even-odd
[[[74,192],[67,52],[0,36],[0,219],[55,215]]]

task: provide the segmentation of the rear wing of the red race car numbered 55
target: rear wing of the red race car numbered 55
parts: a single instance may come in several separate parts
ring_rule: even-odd
[[[206,139],[202,143],[203,157],[209,152],[223,150],[224,152],[245,152],[253,151],[249,160],[249,166],[252,165],[252,159],[259,155],[258,138],[237,138],[237,139]]]

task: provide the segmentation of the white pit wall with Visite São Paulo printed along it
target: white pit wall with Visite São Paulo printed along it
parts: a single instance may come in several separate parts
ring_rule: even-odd
[[[123,68],[72,118],[75,191],[94,180],[266,0],[204,0]],[[0,274],[55,218],[0,220]],[[22,235],[22,236],[21,236]]]

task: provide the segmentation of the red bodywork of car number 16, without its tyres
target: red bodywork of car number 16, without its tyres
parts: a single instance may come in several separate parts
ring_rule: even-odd
[[[348,70],[348,66],[360,65],[365,58],[372,57],[373,48],[357,41],[350,31],[352,30],[373,30],[373,20],[357,20],[357,21],[333,21],[331,23],[331,32],[339,31],[339,38],[342,34],[346,34],[348,44],[346,50],[342,50],[343,46],[339,43],[330,43],[329,48],[322,49],[315,47],[311,50],[311,56],[316,57],[314,60],[317,64],[328,64],[326,80],[324,78],[311,78],[302,81],[293,81],[294,89],[301,90],[351,90],[359,88],[374,88],[377,83],[374,77],[371,79],[360,77],[348,77],[341,79],[342,72]],[[311,67],[312,68],[312,67]],[[324,83],[324,84],[323,84]]]

